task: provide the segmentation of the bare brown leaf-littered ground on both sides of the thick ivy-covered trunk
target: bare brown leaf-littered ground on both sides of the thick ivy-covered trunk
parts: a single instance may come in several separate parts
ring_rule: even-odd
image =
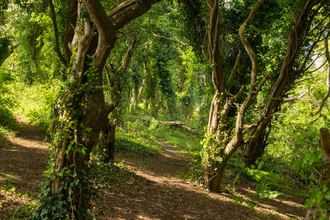
[[[35,204],[50,154],[49,137],[21,117],[18,132],[0,143],[0,219],[29,212]],[[292,196],[261,200],[255,210],[236,204],[232,192],[210,193],[186,181],[189,161],[158,140],[161,153],[154,157],[117,154],[116,181],[100,190],[104,216],[97,219],[304,219],[304,200]],[[224,185],[232,184],[225,179]],[[240,182],[235,194],[248,198],[253,185]],[[96,207],[100,205],[94,204]]]

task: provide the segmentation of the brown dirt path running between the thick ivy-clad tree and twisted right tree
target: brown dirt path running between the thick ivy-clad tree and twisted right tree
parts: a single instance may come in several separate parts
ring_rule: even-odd
[[[128,183],[104,191],[107,204],[102,219],[303,219],[302,205],[291,198],[266,200],[252,211],[238,205],[231,195],[209,193],[197,184],[186,182],[180,174],[189,166],[177,149],[162,141],[162,154],[153,158],[119,155],[122,166],[134,174]],[[249,191],[249,189],[240,189]],[[299,200],[299,202],[301,202]]]

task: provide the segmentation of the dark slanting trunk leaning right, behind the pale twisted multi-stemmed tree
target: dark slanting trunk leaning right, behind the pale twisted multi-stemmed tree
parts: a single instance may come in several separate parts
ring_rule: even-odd
[[[313,7],[317,4],[319,4],[318,8],[313,10]],[[287,51],[279,76],[275,85],[272,87],[263,112],[249,131],[250,135],[247,141],[247,150],[244,154],[245,164],[247,166],[255,164],[256,160],[262,157],[267,145],[268,134],[266,134],[266,130],[267,127],[270,127],[273,114],[280,109],[283,98],[292,88],[299,74],[306,68],[307,59],[310,59],[309,56],[317,41],[310,47],[308,54],[304,55],[304,60],[301,62],[299,68],[295,67],[296,70],[294,70],[294,65],[301,51],[301,47],[306,40],[307,33],[311,29],[312,21],[323,4],[323,1],[303,0],[300,2],[300,5],[298,5],[293,28],[288,37]],[[320,36],[322,36],[325,30],[326,29],[320,29]],[[315,29],[313,29],[313,31],[315,31]]]

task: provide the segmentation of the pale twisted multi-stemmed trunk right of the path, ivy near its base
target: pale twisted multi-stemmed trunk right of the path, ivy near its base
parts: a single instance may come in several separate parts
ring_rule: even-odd
[[[252,8],[248,18],[244,21],[239,30],[241,41],[252,61],[252,73],[248,97],[241,106],[237,105],[238,114],[236,119],[236,131],[234,137],[230,140],[230,132],[224,134],[227,116],[231,106],[235,104],[235,101],[242,96],[244,86],[241,86],[236,96],[230,99],[227,97],[227,91],[230,90],[232,80],[236,71],[238,70],[241,52],[238,53],[237,60],[229,78],[230,82],[229,84],[226,84],[224,74],[225,71],[222,66],[222,57],[220,56],[219,51],[219,1],[207,0],[209,6],[209,58],[212,66],[212,81],[215,88],[215,95],[211,103],[208,124],[208,135],[209,138],[211,138],[211,141],[208,143],[205,152],[204,180],[206,187],[211,191],[220,191],[225,166],[233,153],[243,144],[243,124],[245,112],[256,98],[256,94],[261,90],[261,87],[268,77],[265,77],[260,82],[259,87],[256,89],[258,60],[253,49],[251,48],[250,43],[247,41],[247,36],[245,33],[246,28],[252,24],[255,14],[263,2],[264,0],[257,1],[257,3]]]

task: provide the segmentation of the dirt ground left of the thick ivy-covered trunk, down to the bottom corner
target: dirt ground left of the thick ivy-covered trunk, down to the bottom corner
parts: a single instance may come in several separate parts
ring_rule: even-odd
[[[37,197],[50,153],[44,132],[22,117],[17,116],[17,122],[16,135],[0,143],[0,187],[6,189],[0,191],[0,219],[11,219]],[[29,198],[21,196],[26,193]]]

